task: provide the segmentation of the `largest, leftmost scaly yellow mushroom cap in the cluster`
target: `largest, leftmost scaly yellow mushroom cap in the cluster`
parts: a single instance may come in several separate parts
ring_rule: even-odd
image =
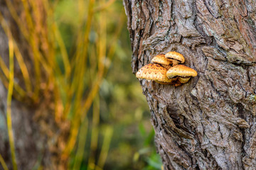
[[[161,67],[159,64],[147,64],[136,73],[138,79],[154,80],[159,82],[169,83],[173,81],[166,77],[167,69]]]

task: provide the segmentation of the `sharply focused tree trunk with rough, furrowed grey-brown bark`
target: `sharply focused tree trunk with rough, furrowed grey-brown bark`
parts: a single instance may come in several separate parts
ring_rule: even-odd
[[[126,1],[132,70],[180,52],[198,77],[141,81],[164,169],[256,169],[256,2]]]

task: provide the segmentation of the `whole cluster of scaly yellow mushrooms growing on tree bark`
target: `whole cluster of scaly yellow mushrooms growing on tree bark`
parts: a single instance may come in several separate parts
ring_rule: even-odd
[[[197,72],[182,65],[185,58],[178,52],[167,52],[165,55],[156,55],[151,64],[147,64],[136,73],[138,79],[156,81],[159,84],[173,84],[181,86],[196,77]]]

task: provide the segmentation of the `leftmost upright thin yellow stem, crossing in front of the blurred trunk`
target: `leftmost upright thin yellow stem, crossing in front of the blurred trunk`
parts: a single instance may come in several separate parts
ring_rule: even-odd
[[[14,90],[14,42],[9,35],[9,86],[7,94],[7,111],[6,111],[6,120],[7,128],[9,135],[9,142],[11,148],[11,161],[14,167],[14,170],[17,169],[16,156],[15,156],[15,147],[14,147],[14,132],[11,125],[11,96]]]

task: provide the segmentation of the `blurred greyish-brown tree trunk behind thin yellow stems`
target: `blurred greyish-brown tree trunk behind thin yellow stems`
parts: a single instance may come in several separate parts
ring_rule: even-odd
[[[9,0],[7,0],[9,1]],[[24,17],[21,1],[9,1],[14,4],[14,10],[19,16]],[[0,12],[4,16],[11,29],[12,36],[21,51],[23,60],[30,74],[31,82],[35,82],[33,65],[33,52],[28,42],[23,38],[21,30],[11,16],[5,0],[0,0]],[[43,11],[39,11],[43,12]],[[42,14],[43,15],[43,14]],[[46,21],[46,18],[44,18]],[[2,20],[0,20],[1,22]],[[25,26],[26,27],[26,26]],[[0,55],[6,66],[9,67],[9,40],[0,25]],[[41,49],[38,49],[41,50]],[[14,77],[19,85],[24,87],[23,77],[18,62],[14,61]],[[7,90],[4,86],[4,74],[1,68],[0,81],[0,154],[4,158],[9,169],[13,169],[9,145],[9,135],[6,125],[6,98]],[[36,103],[28,98],[13,98],[11,103],[12,126],[14,130],[14,142],[16,149],[16,162],[18,169],[66,169],[67,162],[60,159],[64,140],[60,138],[63,131],[55,122],[53,84],[48,84],[48,77],[43,72],[41,78],[41,89]],[[8,81],[6,81],[8,82]],[[47,85],[49,86],[47,86]],[[7,84],[8,85],[8,84]],[[45,89],[48,90],[46,91]],[[25,88],[24,88],[25,89]],[[14,90],[14,97],[17,91]],[[26,94],[29,96],[29,94]],[[63,162],[62,162],[63,161]],[[1,167],[1,166],[0,166]],[[0,168],[1,169],[1,168]]]

